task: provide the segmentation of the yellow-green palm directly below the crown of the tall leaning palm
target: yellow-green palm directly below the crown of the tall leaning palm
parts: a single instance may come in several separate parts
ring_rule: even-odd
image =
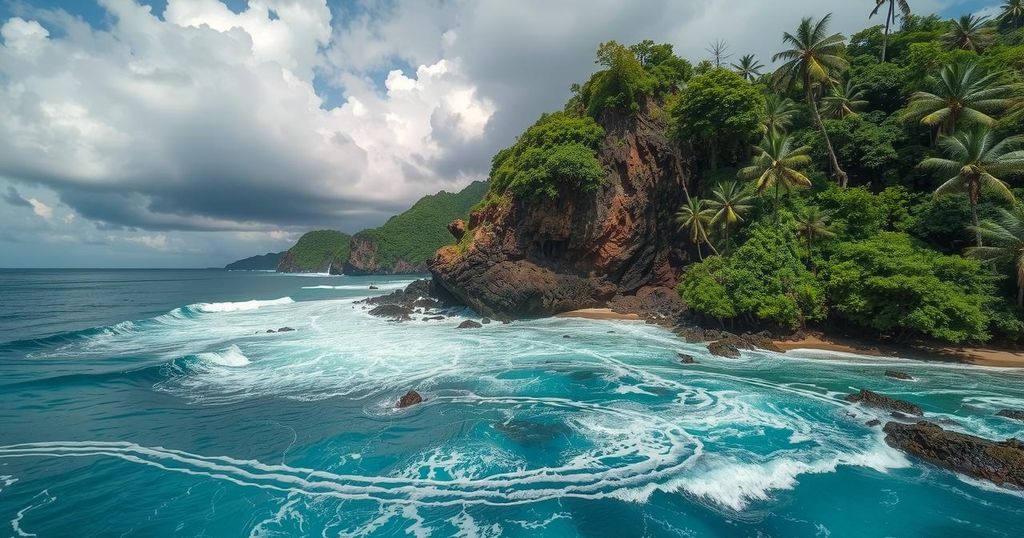
[[[811,180],[800,172],[811,164],[809,146],[793,148],[793,138],[788,134],[772,134],[765,136],[759,146],[754,147],[756,156],[751,166],[738,172],[741,179],[754,179],[754,189],[758,194],[764,194],[769,189],[775,190],[775,215],[778,216],[779,190],[786,193],[794,189],[811,185]]]

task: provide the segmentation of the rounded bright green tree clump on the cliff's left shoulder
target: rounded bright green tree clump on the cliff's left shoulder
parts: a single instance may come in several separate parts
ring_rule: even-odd
[[[593,191],[604,180],[596,155],[603,137],[590,117],[546,114],[492,160],[490,189],[532,200],[555,198],[561,188]]]

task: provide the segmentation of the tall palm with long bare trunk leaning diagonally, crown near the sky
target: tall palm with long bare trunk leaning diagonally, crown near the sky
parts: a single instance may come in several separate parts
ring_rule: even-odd
[[[836,174],[836,180],[841,187],[846,187],[849,177],[839,165],[836,151],[828,138],[828,131],[825,129],[825,124],[821,122],[818,105],[814,99],[815,83],[828,83],[830,80],[829,71],[842,72],[850,67],[849,63],[840,55],[846,46],[846,38],[843,37],[843,34],[827,35],[830,19],[831,13],[821,17],[817,24],[813,24],[810,17],[801,20],[796,34],[786,32],[782,37],[782,40],[792,45],[793,48],[775,54],[772,56],[772,61],[785,60],[775,72],[776,80],[791,86],[797,82],[803,83],[814,124],[821,130],[821,137],[828,150],[828,161]]]

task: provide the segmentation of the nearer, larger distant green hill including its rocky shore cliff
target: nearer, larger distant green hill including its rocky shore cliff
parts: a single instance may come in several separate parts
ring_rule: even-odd
[[[485,181],[474,181],[458,193],[425,196],[382,226],[359,232],[352,237],[345,273],[425,273],[437,249],[454,241],[449,222],[467,217],[486,192]]]

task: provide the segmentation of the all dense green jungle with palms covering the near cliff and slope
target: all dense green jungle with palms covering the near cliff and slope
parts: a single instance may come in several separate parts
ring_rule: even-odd
[[[722,41],[695,67],[670,45],[603,43],[564,111],[494,158],[488,203],[599,189],[596,152],[622,140],[598,123],[643,115],[697,152],[671,222],[697,261],[679,284],[691,313],[1024,341],[1024,13],[910,4],[868,3],[881,24],[849,40],[829,14],[794,20],[774,73],[750,54],[723,69]]]

